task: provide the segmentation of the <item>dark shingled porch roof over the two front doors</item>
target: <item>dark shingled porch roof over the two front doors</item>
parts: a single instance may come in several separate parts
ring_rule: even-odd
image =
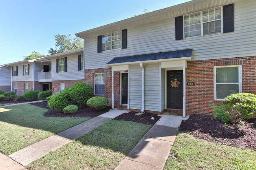
[[[131,55],[125,57],[115,57],[111,61],[109,61],[106,66],[114,66],[115,64],[119,65],[120,63],[128,64],[128,63],[136,63],[143,61],[157,62],[158,60],[168,60],[175,58],[183,58],[183,57],[191,57],[192,48],[190,49],[182,49],[176,51],[166,51],[159,53],[149,53],[149,54],[141,54],[141,55]],[[185,58],[184,58],[185,59]]]

